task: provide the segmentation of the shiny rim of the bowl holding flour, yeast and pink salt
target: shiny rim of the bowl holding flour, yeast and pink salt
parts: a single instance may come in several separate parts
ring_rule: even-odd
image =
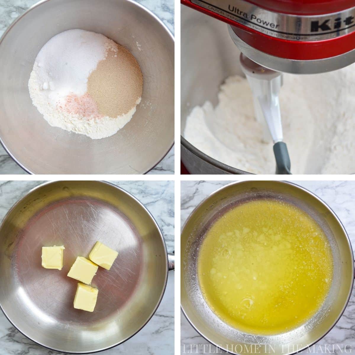
[[[1,47],[1,43],[2,41],[5,39],[6,35],[10,32],[10,30],[12,29],[12,27],[14,27],[16,25],[17,22],[19,22],[21,20],[22,17],[26,16],[27,13],[29,13],[30,11],[32,11],[33,9],[35,9],[36,7],[44,4],[45,2],[49,2],[51,0],[40,0],[38,2],[36,2],[35,4],[33,4],[31,7],[29,7],[25,12],[23,12],[20,16],[18,16],[15,21],[11,22],[9,27],[7,27],[6,31],[2,34],[2,36],[0,37],[0,47]],[[147,9],[147,7],[141,5],[139,2],[136,2],[134,0],[121,0],[121,1],[127,1],[130,2],[133,5],[136,5],[138,7],[140,7],[143,11],[146,11],[151,17],[154,18],[154,20],[158,21],[159,24],[161,26],[163,26],[163,28],[165,29],[165,31],[168,33],[169,37],[171,40],[173,40],[173,43],[175,43],[175,38],[173,33],[171,33],[171,31],[169,30],[168,27],[165,26],[164,22],[162,20],[160,20],[160,18],[155,15],[151,10]],[[143,171],[141,174],[147,174],[149,171],[151,171],[156,165],[158,165],[165,157],[166,155],[170,152],[170,149],[173,148],[174,146],[174,139],[175,139],[175,135],[173,135],[173,140],[170,143],[170,146],[168,147],[168,150],[163,154],[162,158],[157,159],[157,161],[154,163],[154,165],[152,165],[151,168],[146,169],[145,171]],[[10,152],[9,148],[6,147],[6,144],[4,143],[4,141],[2,140],[2,137],[0,136],[0,143],[2,145],[2,147],[5,149],[6,153],[10,155],[10,157],[15,161],[15,163],[20,166],[20,168],[22,168],[24,171],[26,171],[26,173],[34,175],[35,173],[33,173],[29,168],[26,168],[24,166],[24,164],[20,163],[20,161],[15,158],[15,156]]]

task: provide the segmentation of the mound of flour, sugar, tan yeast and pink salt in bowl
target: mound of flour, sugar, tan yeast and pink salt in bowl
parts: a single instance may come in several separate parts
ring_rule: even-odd
[[[39,51],[28,81],[33,105],[51,126],[93,139],[129,122],[143,76],[134,56],[102,34],[71,29]]]

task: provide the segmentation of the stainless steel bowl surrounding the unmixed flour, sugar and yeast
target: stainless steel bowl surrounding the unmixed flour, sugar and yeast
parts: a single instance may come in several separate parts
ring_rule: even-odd
[[[131,121],[100,140],[51,127],[32,105],[28,79],[54,35],[81,28],[124,45],[143,73],[142,101]],[[0,40],[0,139],[33,174],[137,174],[153,168],[174,142],[174,38],[132,0],[44,0]]]

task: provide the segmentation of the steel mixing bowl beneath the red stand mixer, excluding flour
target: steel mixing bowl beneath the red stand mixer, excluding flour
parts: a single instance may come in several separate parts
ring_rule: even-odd
[[[239,55],[224,22],[181,5],[181,160],[191,174],[249,174],[209,157],[182,135],[193,107],[206,100],[217,105],[225,78],[244,76]]]

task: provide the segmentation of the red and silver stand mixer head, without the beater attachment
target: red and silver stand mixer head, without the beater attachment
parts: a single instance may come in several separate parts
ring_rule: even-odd
[[[315,74],[355,62],[353,0],[181,0],[228,23],[248,58],[280,72]]]

